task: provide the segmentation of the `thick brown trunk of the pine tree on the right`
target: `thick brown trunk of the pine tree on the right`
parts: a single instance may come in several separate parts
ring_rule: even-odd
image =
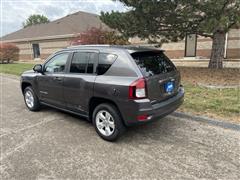
[[[212,68],[212,69],[223,68],[225,41],[226,41],[225,32],[217,31],[213,34],[212,52],[211,52],[211,58],[208,64],[209,68]]]

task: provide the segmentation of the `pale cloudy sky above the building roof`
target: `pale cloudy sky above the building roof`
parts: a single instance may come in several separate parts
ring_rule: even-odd
[[[119,2],[112,0],[0,0],[0,37],[22,28],[22,22],[31,14],[43,14],[51,21],[86,11],[100,14],[101,11],[126,11]]]

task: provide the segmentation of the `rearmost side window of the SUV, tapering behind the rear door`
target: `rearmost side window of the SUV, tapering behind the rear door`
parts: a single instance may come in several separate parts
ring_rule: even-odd
[[[97,74],[102,75],[111,67],[117,56],[114,54],[101,53],[99,54],[99,61],[97,67]]]

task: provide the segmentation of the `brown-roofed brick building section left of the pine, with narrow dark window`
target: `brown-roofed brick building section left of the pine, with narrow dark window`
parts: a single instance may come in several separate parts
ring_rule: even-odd
[[[3,36],[1,41],[15,43],[20,49],[20,60],[45,59],[92,27],[110,30],[98,15],[79,11],[47,24],[23,28]]]

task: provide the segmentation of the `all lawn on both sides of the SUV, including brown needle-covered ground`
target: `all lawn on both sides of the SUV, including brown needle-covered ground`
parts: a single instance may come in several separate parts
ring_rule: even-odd
[[[0,73],[20,75],[34,64],[0,64]],[[207,85],[239,85],[239,69],[210,70],[179,67],[185,87],[185,102],[180,111],[240,123],[240,89],[210,89]]]

